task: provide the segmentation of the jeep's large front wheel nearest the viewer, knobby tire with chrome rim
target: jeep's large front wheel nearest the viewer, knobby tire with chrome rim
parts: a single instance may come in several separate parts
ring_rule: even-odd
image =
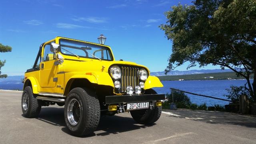
[[[100,102],[87,88],[72,89],[65,102],[64,118],[74,136],[92,134],[100,121]]]

